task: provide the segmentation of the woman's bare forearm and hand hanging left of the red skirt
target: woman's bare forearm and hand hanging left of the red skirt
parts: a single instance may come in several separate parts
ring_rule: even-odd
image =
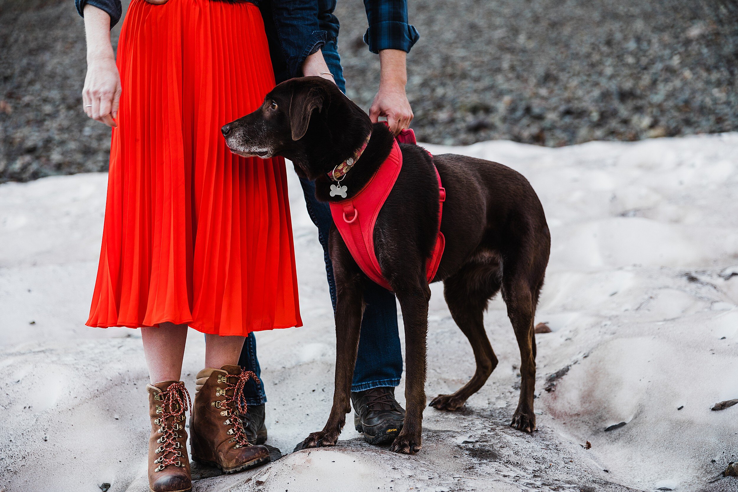
[[[90,4],[85,5],[84,14],[87,35],[87,76],[82,89],[84,111],[92,119],[115,127],[120,75],[110,44],[110,16]]]

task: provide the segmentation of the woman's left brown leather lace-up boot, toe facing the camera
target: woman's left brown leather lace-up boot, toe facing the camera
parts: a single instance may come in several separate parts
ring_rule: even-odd
[[[146,389],[151,417],[148,488],[151,492],[190,492],[192,480],[184,430],[184,411],[191,405],[190,393],[182,381],[147,384]]]

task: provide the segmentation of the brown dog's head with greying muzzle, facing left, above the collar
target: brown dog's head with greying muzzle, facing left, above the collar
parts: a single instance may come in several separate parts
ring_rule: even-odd
[[[261,107],[221,128],[233,153],[244,157],[284,156],[308,178],[347,159],[368,134],[368,115],[330,80],[286,80]]]

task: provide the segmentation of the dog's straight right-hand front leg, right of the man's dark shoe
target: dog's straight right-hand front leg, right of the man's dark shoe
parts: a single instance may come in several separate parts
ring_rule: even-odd
[[[420,451],[425,409],[426,336],[430,288],[424,278],[407,289],[396,290],[405,325],[405,424],[390,446],[391,451],[415,454]]]

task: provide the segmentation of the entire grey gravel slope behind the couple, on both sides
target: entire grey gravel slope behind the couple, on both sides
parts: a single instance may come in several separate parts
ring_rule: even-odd
[[[339,1],[337,15],[348,95],[368,109],[379,60],[361,40],[362,1]],[[421,40],[407,93],[424,142],[738,129],[736,0],[410,0],[410,21]],[[106,170],[110,131],[80,107],[85,69],[71,0],[0,0],[0,182]]]

